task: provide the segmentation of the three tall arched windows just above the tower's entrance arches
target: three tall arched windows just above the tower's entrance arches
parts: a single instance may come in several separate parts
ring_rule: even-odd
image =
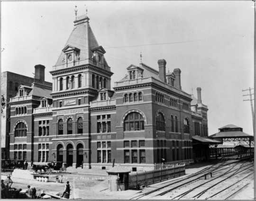
[[[62,135],[63,134],[63,119],[60,119],[58,121],[58,135]],[[77,130],[76,130],[77,134],[82,134],[83,133],[83,121],[82,121],[82,117],[79,117],[77,119]],[[67,134],[73,134],[73,120],[72,118],[68,118],[67,119]]]

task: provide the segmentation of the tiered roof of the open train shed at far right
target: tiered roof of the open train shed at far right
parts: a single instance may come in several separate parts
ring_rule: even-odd
[[[229,124],[219,128],[219,133],[212,134],[210,138],[254,138],[253,135],[249,135],[243,132],[243,128]]]

